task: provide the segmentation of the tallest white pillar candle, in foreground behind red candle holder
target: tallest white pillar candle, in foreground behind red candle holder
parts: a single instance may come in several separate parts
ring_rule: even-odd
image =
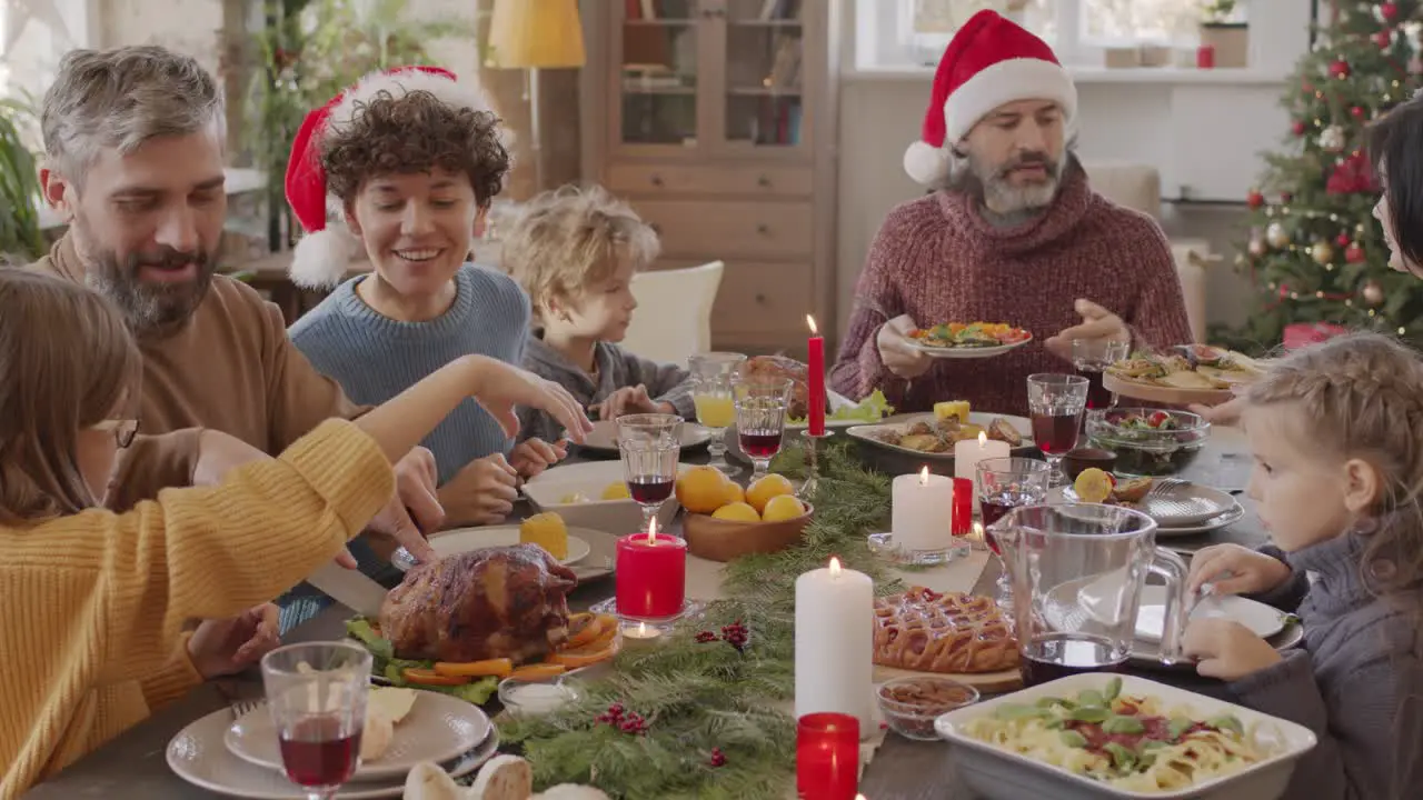
[[[864,572],[830,567],[795,578],[795,716],[838,712],[874,727],[875,586]]]

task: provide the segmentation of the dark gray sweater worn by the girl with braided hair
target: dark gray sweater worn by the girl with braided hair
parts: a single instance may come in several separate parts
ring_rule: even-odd
[[[1362,534],[1346,534],[1284,558],[1291,581],[1259,599],[1298,605],[1303,648],[1231,683],[1242,705],[1319,737],[1285,800],[1423,797],[1423,595],[1376,598],[1360,577],[1362,549]]]

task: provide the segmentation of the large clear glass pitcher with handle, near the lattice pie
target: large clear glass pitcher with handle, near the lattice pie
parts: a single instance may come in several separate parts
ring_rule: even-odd
[[[1140,511],[1089,502],[1025,505],[993,525],[1013,582],[1025,685],[1120,668],[1148,572],[1165,581],[1161,659],[1181,658],[1187,568],[1157,549],[1155,530]]]

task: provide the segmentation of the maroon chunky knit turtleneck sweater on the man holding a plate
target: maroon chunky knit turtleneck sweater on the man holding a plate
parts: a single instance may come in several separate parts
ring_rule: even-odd
[[[1072,372],[1043,342],[1081,322],[1077,298],[1121,316],[1133,347],[1191,342],[1161,228],[1093,192],[1076,162],[1047,212],[1023,225],[996,228],[976,205],[963,192],[941,191],[889,212],[855,286],[830,374],[835,391],[859,399],[878,387],[901,411],[968,400],[976,410],[1026,414],[1029,374]],[[993,359],[935,359],[905,381],[885,369],[875,346],[885,320],[904,313],[925,327],[1006,322],[1030,330],[1033,342]]]

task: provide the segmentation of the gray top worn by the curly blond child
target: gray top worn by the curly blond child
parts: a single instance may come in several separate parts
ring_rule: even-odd
[[[598,364],[598,383],[582,367],[564,357],[562,353],[544,343],[541,332],[529,333],[524,349],[524,369],[561,384],[586,409],[602,403],[609,394],[625,386],[647,387],[647,396],[657,403],[672,403],[677,416],[694,421],[696,409],[692,403],[692,380],[686,369],[677,364],[659,364],[618,344],[599,342],[593,347]],[[564,434],[564,426],[544,411],[519,409],[519,440],[539,437],[556,441]]]

